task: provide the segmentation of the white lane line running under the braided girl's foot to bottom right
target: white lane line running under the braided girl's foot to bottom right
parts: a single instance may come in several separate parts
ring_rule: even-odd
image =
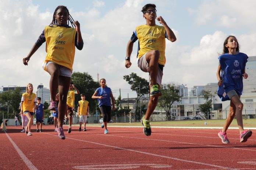
[[[49,133],[45,133],[45,134],[49,134]],[[49,135],[58,137],[57,135],[54,135],[54,134],[49,134]],[[106,134],[105,134],[105,135],[106,135]],[[109,135],[106,135],[106,136],[109,136]],[[106,144],[101,144],[101,143],[96,143],[96,142],[91,142],[91,141],[86,141],[86,140],[81,140],[81,139],[75,139],[75,138],[70,138],[70,137],[66,137],[66,139],[77,140],[77,141],[92,143],[92,144],[96,144],[96,145],[102,145],[102,146],[105,146],[105,147],[116,148],[116,149],[122,149],[122,150],[126,150],[126,151],[137,152],[137,153],[140,153],[140,154],[158,156],[158,157],[161,157],[161,158],[173,159],[173,160],[178,160],[178,161],[188,162],[188,163],[195,163],[195,164],[199,164],[199,165],[206,165],[206,166],[211,166],[211,167],[216,167],[216,168],[221,168],[221,169],[239,170],[239,169],[230,168],[230,167],[212,165],[212,164],[203,163],[203,162],[196,162],[196,161],[192,161],[192,160],[185,160],[185,159],[173,158],[173,157],[164,156],[164,155],[151,154],[151,153],[148,153],[148,152],[142,152],[142,151],[136,151],[136,150],[132,150],[132,149],[120,148],[120,147],[115,147],[115,146],[111,146],[111,145],[106,145]],[[142,138],[142,139],[143,139],[143,138]]]

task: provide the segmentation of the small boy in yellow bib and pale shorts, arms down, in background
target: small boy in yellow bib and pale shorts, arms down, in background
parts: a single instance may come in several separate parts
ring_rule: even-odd
[[[89,114],[89,102],[87,100],[85,100],[85,94],[82,93],[81,94],[81,99],[80,101],[78,101],[78,116],[80,117],[79,119],[79,123],[80,123],[80,127],[79,127],[79,131],[81,131],[81,127],[82,127],[82,122],[83,122],[83,131],[86,131],[86,121],[87,121],[87,116]]]

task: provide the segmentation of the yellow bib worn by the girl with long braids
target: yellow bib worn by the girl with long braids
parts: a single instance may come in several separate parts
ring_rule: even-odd
[[[60,26],[46,26],[46,59],[61,66],[71,69],[75,57],[75,28],[67,28]],[[46,68],[45,68],[46,70]]]

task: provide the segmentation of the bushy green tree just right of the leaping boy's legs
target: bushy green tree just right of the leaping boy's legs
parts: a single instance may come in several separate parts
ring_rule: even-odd
[[[163,84],[161,86],[162,96],[158,99],[158,106],[166,111],[166,119],[172,119],[171,107],[175,101],[180,101],[179,89],[175,84]]]

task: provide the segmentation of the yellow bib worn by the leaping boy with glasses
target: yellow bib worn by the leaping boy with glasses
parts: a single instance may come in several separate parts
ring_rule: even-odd
[[[141,25],[136,27],[136,36],[139,40],[138,58],[141,58],[146,52],[159,50],[159,64],[166,63],[165,58],[165,32],[163,26]]]

